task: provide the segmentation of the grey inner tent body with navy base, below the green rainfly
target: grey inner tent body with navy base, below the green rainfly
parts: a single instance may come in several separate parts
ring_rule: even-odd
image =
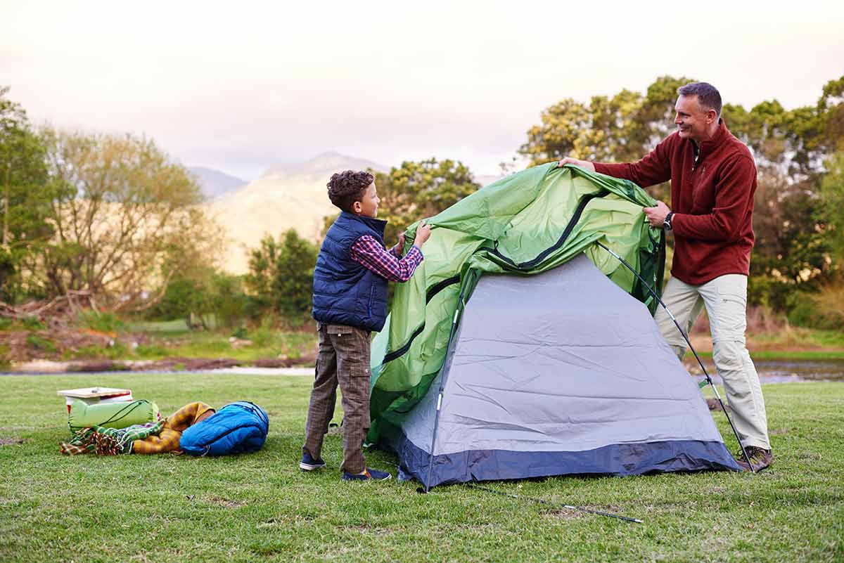
[[[482,276],[430,391],[383,432],[399,478],[428,487],[739,470],[646,306],[585,255]]]

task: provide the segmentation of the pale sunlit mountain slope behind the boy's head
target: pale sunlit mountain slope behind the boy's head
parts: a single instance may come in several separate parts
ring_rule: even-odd
[[[305,162],[273,165],[257,180],[208,202],[208,211],[230,239],[225,269],[246,273],[248,249],[257,248],[266,233],[278,239],[284,231],[295,228],[301,237],[317,242],[324,217],[338,212],[327,195],[331,174],[367,168],[388,170],[364,158],[322,153]]]

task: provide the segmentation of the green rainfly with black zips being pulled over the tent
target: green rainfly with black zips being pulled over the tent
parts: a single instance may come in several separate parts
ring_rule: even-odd
[[[552,163],[498,180],[431,217],[425,260],[410,281],[397,285],[387,324],[373,340],[368,442],[379,442],[381,421],[403,416],[428,393],[484,273],[531,276],[585,253],[653,313],[656,299],[597,243],[660,292],[664,235],[641,210],[655,204],[628,180]],[[415,228],[408,228],[408,241]]]

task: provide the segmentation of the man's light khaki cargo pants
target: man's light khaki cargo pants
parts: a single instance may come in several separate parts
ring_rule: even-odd
[[[724,382],[738,436],[745,448],[771,449],[759,374],[744,346],[747,276],[727,274],[700,286],[691,286],[673,277],[665,286],[663,302],[686,334],[706,306],[712,331],[712,360]],[[668,345],[682,360],[687,345],[677,326],[662,307],[657,308],[654,320]]]

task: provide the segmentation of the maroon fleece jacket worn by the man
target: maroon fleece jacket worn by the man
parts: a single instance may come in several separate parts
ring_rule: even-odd
[[[724,274],[749,275],[756,164],[723,121],[700,151],[675,131],[636,163],[595,163],[595,170],[643,188],[671,180],[672,276],[696,286]]]

